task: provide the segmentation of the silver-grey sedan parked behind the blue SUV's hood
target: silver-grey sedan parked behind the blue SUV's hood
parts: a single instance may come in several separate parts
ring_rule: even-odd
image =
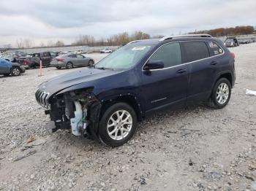
[[[59,55],[50,62],[50,66],[61,69],[72,69],[75,66],[93,66],[94,59],[80,54]]]

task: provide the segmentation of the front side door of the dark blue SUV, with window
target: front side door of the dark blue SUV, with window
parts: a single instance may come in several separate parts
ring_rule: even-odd
[[[178,42],[165,44],[154,52],[148,61],[162,61],[164,69],[142,71],[141,93],[147,111],[185,104],[187,98],[188,69],[181,62],[181,49]]]

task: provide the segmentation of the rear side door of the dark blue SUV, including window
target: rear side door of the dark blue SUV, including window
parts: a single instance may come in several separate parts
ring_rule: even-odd
[[[189,68],[188,101],[207,99],[217,74],[217,60],[211,58],[204,41],[181,42],[181,49]]]

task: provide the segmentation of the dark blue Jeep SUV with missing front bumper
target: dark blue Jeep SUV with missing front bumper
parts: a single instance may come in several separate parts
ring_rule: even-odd
[[[48,128],[116,147],[159,109],[207,101],[221,109],[235,84],[234,55],[207,34],[129,42],[96,65],[43,82]]]

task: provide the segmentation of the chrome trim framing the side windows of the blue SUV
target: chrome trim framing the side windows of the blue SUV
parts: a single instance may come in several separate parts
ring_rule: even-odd
[[[214,42],[214,43],[218,44],[218,46],[219,46],[219,43],[217,43],[217,42],[215,42],[215,41],[194,40],[194,42],[195,42],[195,41]],[[175,42],[192,42],[192,41],[175,41]],[[163,46],[165,46],[166,44],[171,44],[171,43],[175,43],[175,42],[168,42],[168,43],[162,44],[160,47],[163,47]],[[160,47],[158,47],[157,50],[159,50]],[[220,56],[220,55],[224,55],[224,54],[225,54],[225,50],[223,50],[223,48],[222,48],[221,46],[219,46],[219,47],[222,49],[222,54],[209,56],[208,58],[202,58],[202,59],[197,60],[197,61],[203,61],[203,60],[206,60],[206,59],[209,59],[209,58],[214,58],[214,57],[217,57],[217,56]],[[146,60],[146,62],[145,62],[145,63],[143,64],[143,66],[142,66],[141,71],[146,71],[146,70],[143,70],[143,67],[144,67],[145,64],[148,62],[148,60],[151,58],[151,56],[154,55],[155,52],[157,52],[157,50],[155,50],[155,51],[150,55],[150,57]],[[195,63],[195,62],[197,62],[197,61],[192,61],[192,62],[189,62],[189,63]],[[176,67],[178,67],[178,66],[183,66],[183,65],[186,65],[186,64],[189,64],[189,63],[181,63],[181,64],[176,65],[176,66],[170,66],[170,67],[167,67],[167,68],[164,68],[164,69],[152,69],[152,70],[150,70],[150,71],[165,70],[165,69],[173,69],[173,68],[176,68]]]

